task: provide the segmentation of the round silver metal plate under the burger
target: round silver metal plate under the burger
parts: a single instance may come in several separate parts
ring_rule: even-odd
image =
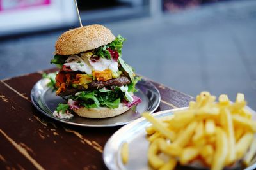
[[[140,97],[142,102],[136,107],[132,107],[125,113],[111,118],[84,118],[79,117],[74,114],[71,120],[65,120],[61,118],[56,118],[52,115],[58,103],[67,103],[62,97],[56,96],[55,91],[47,87],[49,80],[41,79],[38,81],[33,89],[31,90],[31,100],[34,106],[44,113],[47,117],[53,118],[60,122],[79,126],[88,127],[110,127],[117,125],[124,125],[132,120],[140,118],[140,113],[144,111],[150,111],[153,113],[160,103],[160,93],[157,88],[146,80],[141,80],[136,84],[138,92],[135,93],[136,96]]]

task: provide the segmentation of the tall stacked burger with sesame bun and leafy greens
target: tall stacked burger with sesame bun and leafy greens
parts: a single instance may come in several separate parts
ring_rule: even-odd
[[[58,104],[54,116],[71,118],[74,111],[86,118],[115,117],[141,102],[134,96],[140,78],[122,59],[124,41],[103,25],[61,34],[51,64],[60,68],[56,95],[68,102]]]

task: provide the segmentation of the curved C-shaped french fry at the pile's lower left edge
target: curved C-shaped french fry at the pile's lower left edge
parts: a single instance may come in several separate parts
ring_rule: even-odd
[[[159,169],[159,167],[163,166],[164,164],[164,161],[157,155],[158,151],[158,139],[156,139],[150,144],[148,148],[148,162],[154,169]]]

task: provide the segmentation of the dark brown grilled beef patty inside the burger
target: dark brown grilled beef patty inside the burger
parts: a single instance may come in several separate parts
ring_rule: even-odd
[[[74,87],[67,87],[65,92],[60,92],[60,94],[58,94],[58,96],[68,96],[71,94],[75,94],[76,92],[79,92],[79,91],[102,89],[103,87],[110,87],[112,85],[120,87],[122,85],[128,85],[129,83],[131,83],[131,80],[129,78],[127,78],[126,76],[112,78],[108,81],[93,80],[92,83],[88,83],[88,89],[85,89],[84,87],[78,87],[77,89]]]

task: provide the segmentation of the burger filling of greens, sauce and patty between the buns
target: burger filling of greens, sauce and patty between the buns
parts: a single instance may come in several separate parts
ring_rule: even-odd
[[[129,107],[140,103],[140,98],[133,96],[140,78],[121,57],[124,41],[122,36],[117,36],[113,42],[95,50],[54,56],[51,63],[60,67],[56,94],[68,96],[66,108],[118,108],[120,103]]]

